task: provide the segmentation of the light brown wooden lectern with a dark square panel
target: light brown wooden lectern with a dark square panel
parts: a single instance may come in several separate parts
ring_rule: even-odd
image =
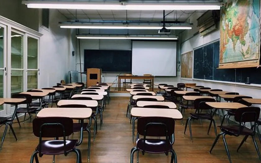
[[[87,69],[87,88],[101,82],[102,70],[97,68]]]

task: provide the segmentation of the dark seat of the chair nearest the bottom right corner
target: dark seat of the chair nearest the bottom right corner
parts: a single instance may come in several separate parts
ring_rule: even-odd
[[[226,132],[229,135],[235,135],[235,136],[238,135],[238,131],[240,127],[242,128],[242,126],[239,125],[218,126],[218,127],[220,127],[220,130],[222,132]],[[243,127],[242,131],[240,132],[240,135],[251,135],[251,134],[253,134],[253,130],[246,127]]]

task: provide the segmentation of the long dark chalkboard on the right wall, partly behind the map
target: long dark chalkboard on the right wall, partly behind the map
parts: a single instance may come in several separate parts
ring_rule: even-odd
[[[218,69],[219,41],[194,50],[194,79],[261,84],[260,68]]]

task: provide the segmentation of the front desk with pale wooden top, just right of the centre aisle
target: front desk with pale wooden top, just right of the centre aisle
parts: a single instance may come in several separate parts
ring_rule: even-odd
[[[132,108],[131,116],[135,117],[132,120],[132,141],[134,141],[135,120],[139,117],[157,116],[157,117],[173,118],[176,120],[180,120],[183,118],[181,112],[176,109],[143,108],[143,107]]]

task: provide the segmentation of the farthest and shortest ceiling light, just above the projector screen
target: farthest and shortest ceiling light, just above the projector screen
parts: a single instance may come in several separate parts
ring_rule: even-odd
[[[77,35],[78,39],[135,39],[135,40],[177,40],[170,35]]]

